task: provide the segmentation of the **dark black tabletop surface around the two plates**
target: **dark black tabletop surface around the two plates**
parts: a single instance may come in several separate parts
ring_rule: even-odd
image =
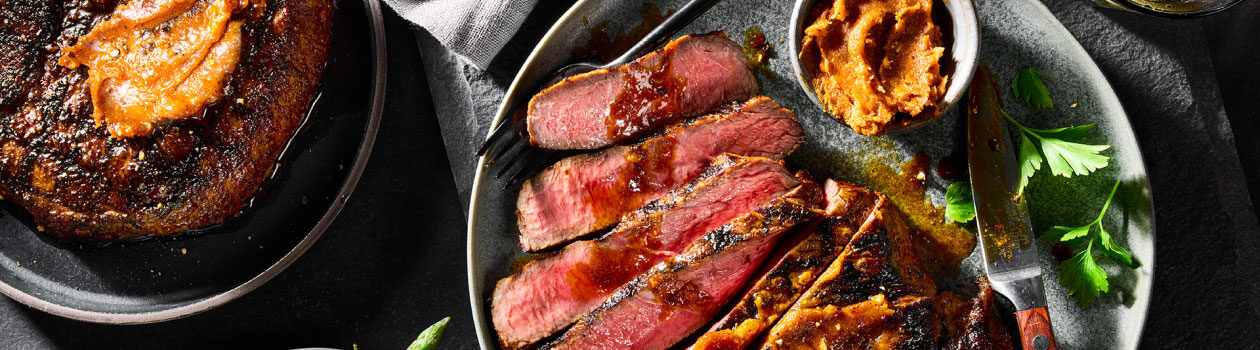
[[[571,4],[539,3],[527,24],[549,24]],[[1047,6],[1065,18],[1082,8],[1096,10],[1090,3],[1047,1]],[[1240,229],[1254,228],[1254,218],[1228,214],[1239,210],[1230,203],[1240,200],[1216,198],[1221,189],[1213,188],[1212,176],[1218,174],[1194,165],[1205,156],[1230,160],[1230,149],[1236,149],[1247,186],[1226,190],[1244,203],[1250,203],[1249,195],[1256,198],[1260,73],[1252,65],[1260,62],[1260,8],[1251,0],[1221,15],[1183,21],[1101,11],[1139,33],[1137,39],[1164,45],[1182,64],[1191,96],[1223,102],[1228,125],[1208,127],[1232,128],[1225,137],[1177,135],[1176,125],[1145,122],[1147,115],[1168,112],[1160,110],[1167,96],[1159,94],[1159,82],[1130,78],[1140,72],[1134,72],[1131,60],[1116,58],[1124,48],[1115,47],[1115,38],[1100,38],[1089,24],[1065,20],[1124,102],[1153,183],[1158,264],[1142,347],[1254,349],[1260,339],[1255,296],[1260,257],[1252,253],[1260,248],[1260,233]],[[454,320],[441,347],[476,347],[464,268],[464,210],[413,34],[388,10],[387,21],[389,93],[375,152],[336,223],[292,267],[219,308],[156,325],[84,324],[4,298],[0,347],[403,349],[445,316]],[[505,50],[528,52],[542,30],[527,31]],[[1187,37],[1206,42],[1211,54],[1197,55],[1169,39]],[[493,64],[519,67],[523,59],[500,55]],[[1254,206],[1242,210],[1247,209],[1255,213]]]

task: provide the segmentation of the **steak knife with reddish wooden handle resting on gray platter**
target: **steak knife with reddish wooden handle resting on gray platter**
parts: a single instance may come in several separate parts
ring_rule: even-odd
[[[1028,204],[1017,196],[1019,162],[988,65],[982,63],[975,69],[966,96],[966,162],[971,172],[984,273],[993,290],[1014,303],[1023,349],[1058,349],[1046,311],[1046,290]]]

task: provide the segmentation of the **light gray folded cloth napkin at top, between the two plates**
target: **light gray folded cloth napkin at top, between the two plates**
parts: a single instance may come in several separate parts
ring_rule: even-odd
[[[384,0],[444,47],[485,68],[538,0]]]

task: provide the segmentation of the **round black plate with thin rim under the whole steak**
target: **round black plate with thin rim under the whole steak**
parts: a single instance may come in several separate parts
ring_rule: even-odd
[[[223,305],[276,277],[333,223],[372,152],[384,102],[377,0],[336,1],[320,93],[241,217],[174,238],[68,247],[0,213],[0,292],[63,317],[146,324]]]

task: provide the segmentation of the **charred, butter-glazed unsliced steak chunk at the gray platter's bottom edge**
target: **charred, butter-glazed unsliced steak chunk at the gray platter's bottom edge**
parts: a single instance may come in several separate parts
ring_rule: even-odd
[[[761,349],[934,349],[935,295],[906,223],[882,200]]]

